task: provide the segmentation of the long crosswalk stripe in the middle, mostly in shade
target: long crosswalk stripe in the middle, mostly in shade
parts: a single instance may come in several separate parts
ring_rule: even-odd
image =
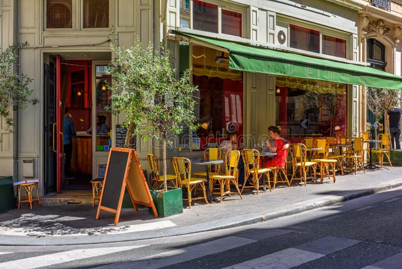
[[[156,269],[163,266],[188,261],[191,259],[216,254],[219,252],[223,252],[229,249],[233,249],[239,246],[244,246],[255,242],[257,241],[253,239],[242,238],[237,236],[229,236],[198,245],[188,246],[172,251],[167,251],[139,258],[134,261],[131,261],[129,267]],[[125,267],[126,266],[124,263],[116,263],[98,268],[125,268]]]

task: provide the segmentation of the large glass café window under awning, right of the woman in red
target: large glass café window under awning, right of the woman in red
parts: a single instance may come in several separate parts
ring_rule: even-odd
[[[276,125],[291,142],[346,135],[346,84],[277,76]]]

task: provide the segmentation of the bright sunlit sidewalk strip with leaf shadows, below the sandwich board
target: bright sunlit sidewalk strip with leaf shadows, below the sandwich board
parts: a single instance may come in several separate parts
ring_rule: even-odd
[[[159,221],[125,226],[108,226],[96,228],[72,228],[63,224],[64,221],[79,221],[84,218],[59,215],[23,214],[18,219],[0,222],[0,234],[18,236],[87,236],[99,234],[122,234],[142,232],[174,227],[173,222]],[[46,223],[46,225],[43,225]]]

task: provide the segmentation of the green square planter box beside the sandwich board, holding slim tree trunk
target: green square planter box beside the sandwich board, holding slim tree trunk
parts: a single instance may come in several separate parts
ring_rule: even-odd
[[[152,200],[159,217],[168,217],[183,213],[183,198],[181,188],[168,187],[167,192],[151,190]],[[152,208],[148,208],[148,213],[153,215]]]

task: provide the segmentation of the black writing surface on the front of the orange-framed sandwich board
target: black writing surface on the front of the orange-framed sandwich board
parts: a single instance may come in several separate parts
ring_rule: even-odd
[[[117,210],[129,152],[112,150],[110,154],[108,173],[102,191],[102,206]]]

